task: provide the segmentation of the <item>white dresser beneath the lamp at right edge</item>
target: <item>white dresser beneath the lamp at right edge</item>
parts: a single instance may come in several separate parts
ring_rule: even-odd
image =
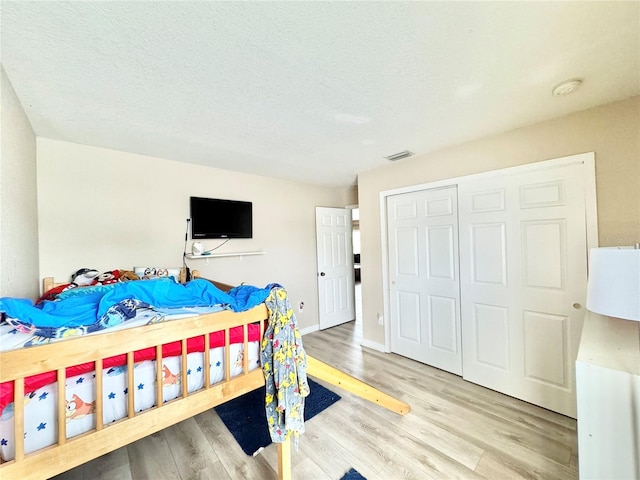
[[[576,360],[581,479],[640,479],[640,322],[587,312]]]

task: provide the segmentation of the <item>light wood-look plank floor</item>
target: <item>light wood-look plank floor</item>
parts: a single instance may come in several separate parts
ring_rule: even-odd
[[[306,422],[294,480],[577,478],[576,421],[359,345],[355,322],[303,337],[310,354],[409,403],[407,416],[328,386],[342,399]],[[275,479],[276,448],[244,454],[215,411],[55,477]]]

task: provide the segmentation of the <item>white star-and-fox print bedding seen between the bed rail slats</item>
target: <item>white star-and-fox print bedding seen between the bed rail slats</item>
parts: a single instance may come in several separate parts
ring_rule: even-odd
[[[210,382],[215,384],[224,379],[224,347],[210,350]],[[249,369],[260,366],[259,342],[249,343]],[[231,376],[243,372],[243,344],[230,347]],[[182,372],[182,357],[172,356],[162,359],[163,398],[167,402],[182,393],[182,382],[187,381],[188,391],[204,388],[204,353],[187,355],[187,371]],[[134,368],[134,408],[136,412],[156,405],[156,362],[144,360],[136,362]],[[102,374],[103,422],[105,425],[127,416],[128,374],[125,367],[105,368]],[[67,438],[80,435],[95,428],[95,373],[68,376],[65,382],[67,401]],[[57,383],[49,383],[33,390],[25,397],[25,453],[34,452],[57,442]],[[14,458],[13,403],[7,405],[0,415],[0,456],[3,461]]]

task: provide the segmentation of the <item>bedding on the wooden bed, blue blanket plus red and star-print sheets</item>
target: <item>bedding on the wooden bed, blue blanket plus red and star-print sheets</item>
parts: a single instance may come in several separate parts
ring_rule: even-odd
[[[99,342],[101,331],[170,321],[222,309],[244,311],[264,302],[270,288],[242,286],[225,293],[206,280],[186,285],[173,279],[144,280],[117,284],[113,288],[73,295],[61,301],[36,306],[17,299],[0,299],[0,311],[6,315],[0,325],[0,351],[28,348],[77,335],[91,335]],[[82,299],[80,301],[79,299]],[[260,366],[259,325],[248,325],[249,369]],[[231,376],[243,372],[243,332],[230,330]],[[224,332],[210,334],[210,383],[225,376]],[[187,368],[182,371],[180,342],[162,346],[163,399],[170,401],[182,394],[204,388],[204,339],[187,341]],[[134,409],[142,411],[156,405],[156,352],[148,348],[134,352]],[[103,361],[103,422],[108,424],[128,415],[128,371],[126,354]],[[67,438],[95,428],[96,378],[92,363],[66,369]],[[56,373],[48,372],[25,379],[25,453],[57,441],[58,406]],[[0,385],[0,457],[14,457],[13,383]]]

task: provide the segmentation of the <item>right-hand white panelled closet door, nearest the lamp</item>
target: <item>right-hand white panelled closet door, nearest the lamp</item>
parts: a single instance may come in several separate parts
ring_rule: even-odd
[[[574,418],[582,172],[573,164],[458,185],[464,378]]]

